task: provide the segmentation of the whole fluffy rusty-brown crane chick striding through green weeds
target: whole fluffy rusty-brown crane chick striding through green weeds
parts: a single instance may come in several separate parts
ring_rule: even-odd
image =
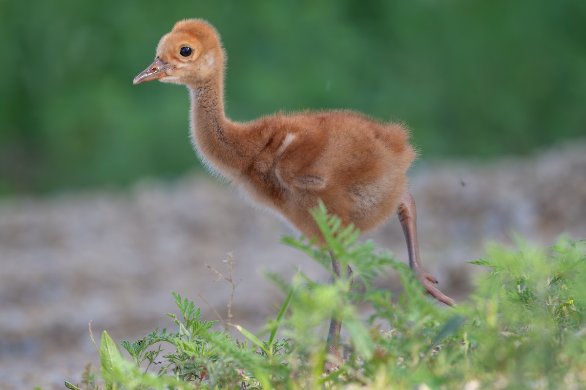
[[[195,149],[210,171],[230,180],[251,200],[280,213],[307,237],[323,243],[309,209],[323,201],[343,225],[375,229],[398,212],[410,265],[427,292],[451,304],[421,269],[415,203],[406,172],[416,153],[408,132],[352,111],[277,113],[247,123],[224,113],[225,54],[219,34],[200,19],[182,20],[162,37],[155,61],[134,84],[159,79],[186,85]],[[338,262],[332,267],[340,277]],[[346,278],[351,281],[352,270]],[[329,353],[338,356],[341,320],[332,319]],[[335,346],[335,347],[334,347]]]

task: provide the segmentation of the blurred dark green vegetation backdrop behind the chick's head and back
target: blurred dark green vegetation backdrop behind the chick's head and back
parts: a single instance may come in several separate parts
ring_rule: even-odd
[[[424,160],[586,135],[586,1],[0,1],[0,194],[174,178],[199,163],[185,89],[132,85],[182,18],[229,54],[227,114],[352,108]]]

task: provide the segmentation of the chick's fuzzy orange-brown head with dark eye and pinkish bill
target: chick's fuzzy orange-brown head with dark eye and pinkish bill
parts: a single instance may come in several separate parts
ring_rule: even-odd
[[[155,61],[132,83],[158,79],[197,88],[219,75],[223,66],[224,50],[216,29],[205,20],[185,19],[161,38]]]

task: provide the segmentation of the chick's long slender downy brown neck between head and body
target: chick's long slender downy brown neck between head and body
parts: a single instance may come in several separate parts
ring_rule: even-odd
[[[193,140],[200,157],[227,177],[237,175],[248,160],[243,153],[241,127],[226,118],[222,77],[189,86]]]

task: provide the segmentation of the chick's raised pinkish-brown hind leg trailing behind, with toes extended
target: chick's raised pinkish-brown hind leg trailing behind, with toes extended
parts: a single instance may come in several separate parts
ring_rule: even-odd
[[[415,201],[410,193],[406,192],[401,199],[399,208],[397,210],[401,227],[403,227],[403,233],[405,234],[405,240],[407,241],[407,250],[409,252],[409,266],[417,272],[417,278],[421,284],[425,287],[428,294],[433,296],[440,302],[444,302],[446,305],[454,305],[455,301],[449,296],[444,295],[437,287],[433,284],[437,284],[437,279],[432,277],[430,274],[425,272],[421,268],[421,261],[419,260],[419,246],[417,244],[417,210],[415,210]]]

